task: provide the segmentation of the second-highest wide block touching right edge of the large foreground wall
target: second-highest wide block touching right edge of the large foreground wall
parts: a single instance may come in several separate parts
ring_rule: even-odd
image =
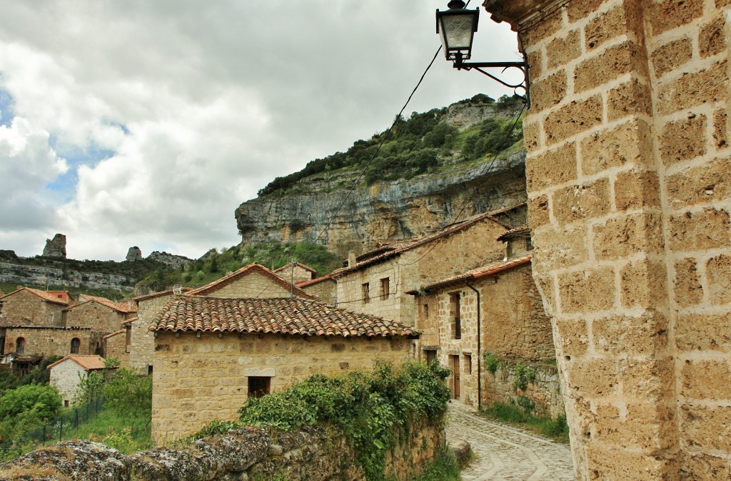
[[[731,159],[714,158],[700,166],[689,167],[667,177],[670,207],[716,202],[731,196]]]

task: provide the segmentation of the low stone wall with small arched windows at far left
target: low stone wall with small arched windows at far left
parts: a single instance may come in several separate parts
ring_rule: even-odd
[[[50,355],[71,354],[71,340],[79,339],[79,354],[95,354],[96,341],[92,339],[92,332],[88,328],[6,328],[5,353],[15,351],[15,343],[19,337],[26,340],[25,354]]]

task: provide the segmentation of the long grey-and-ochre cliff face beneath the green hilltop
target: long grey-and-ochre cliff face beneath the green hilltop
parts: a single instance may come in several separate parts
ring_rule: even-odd
[[[244,202],[236,209],[236,223],[245,244],[317,242],[346,257],[349,250],[362,253],[379,241],[432,234],[526,200],[525,159],[525,151],[518,151],[439,174],[363,185],[352,193],[358,172],[315,175],[300,181],[307,192]]]

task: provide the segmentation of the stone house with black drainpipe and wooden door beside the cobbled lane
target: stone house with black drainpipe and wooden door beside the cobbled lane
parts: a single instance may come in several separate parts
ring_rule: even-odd
[[[531,274],[529,230],[515,228],[497,240],[504,242],[504,259],[408,292],[418,307],[417,358],[447,366],[452,397],[474,407],[513,396],[509,383],[501,386],[485,373],[485,353],[504,365],[556,360],[550,319]],[[543,380],[546,389],[531,386],[520,395],[533,398],[539,411],[558,415],[563,403],[556,368],[542,371],[553,373],[552,382]]]

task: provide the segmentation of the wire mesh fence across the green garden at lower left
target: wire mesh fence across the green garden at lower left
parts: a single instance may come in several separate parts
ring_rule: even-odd
[[[104,407],[104,398],[99,397],[95,401],[68,409],[64,414],[46,421],[42,426],[13,436],[12,439],[2,440],[0,458],[6,459],[9,455],[26,451],[23,447],[37,447],[62,441],[64,436],[68,437],[72,430],[95,417],[102,407]]]

